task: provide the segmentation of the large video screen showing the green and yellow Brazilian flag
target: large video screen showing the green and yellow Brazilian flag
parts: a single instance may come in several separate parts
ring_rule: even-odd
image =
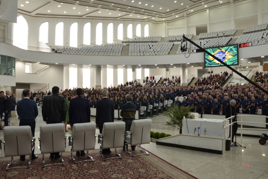
[[[221,61],[228,65],[238,65],[238,46],[228,45],[222,47],[213,47],[205,49],[209,53],[215,55]],[[205,67],[218,67],[223,66],[219,61],[205,53]]]

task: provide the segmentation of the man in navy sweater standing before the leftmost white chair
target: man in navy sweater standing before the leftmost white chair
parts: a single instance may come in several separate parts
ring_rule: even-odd
[[[20,126],[30,126],[32,136],[35,136],[35,118],[38,116],[38,109],[35,101],[30,100],[30,90],[25,89],[22,91],[24,98],[17,104],[17,113],[20,120]],[[32,159],[37,158],[35,155],[35,148],[32,151]],[[25,161],[25,155],[21,155],[21,161]]]

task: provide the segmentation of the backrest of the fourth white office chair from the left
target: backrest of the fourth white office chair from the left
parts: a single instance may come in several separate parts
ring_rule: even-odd
[[[125,122],[105,122],[102,128],[102,149],[124,146]]]

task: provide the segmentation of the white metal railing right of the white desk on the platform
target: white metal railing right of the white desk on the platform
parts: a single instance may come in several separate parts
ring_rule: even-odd
[[[241,135],[240,135],[240,140],[241,141],[240,141],[240,144],[243,143],[243,141],[242,141],[242,139],[243,139],[243,123],[247,123],[247,124],[266,124],[266,125],[268,125],[268,123],[264,123],[264,122],[243,122],[243,116],[244,117],[252,117],[252,118],[256,117],[256,116],[253,116],[253,115],[236,115],[236,117],[241,117],[241,121],[236,121],[236,123],[240,123],[240,125],[241,125]],[[265,116],[265,115],[260,115],[258,117],[267,118],[267,116]],[[231,139],[232,139],[232,135],[233,135],[232,134],[233,124],[235,123],[235,122],[233,122],[233,118],[235,118],[235,116],[231,116],[231,117],[226,118],[226,119],[224,119],[222,121],[222,128],[224,129],[224,134],[226,133],[226,128],[229,127],[229,126],[231,126],[231,128],[230,128],[230,138]],[[231,123],[225,126],[225,122],[227,120],[229,120],[229,119],[231,120]],[[247,128],[247,129],[248,130],[254,130],[255,128]]]

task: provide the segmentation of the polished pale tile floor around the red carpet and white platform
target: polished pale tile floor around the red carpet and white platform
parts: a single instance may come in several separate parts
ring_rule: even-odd
[[[178,129],[170,129],[165,126],[166,120],[163,115],[153,117],[152,131],[165,132],[171,135],[179,134]],[[94,121],[95,117],[91,117],[91,122]],[[115,120],[115,122],[117,121],[121,120]],[[10,122],[18,125],[18,117],[10,118]],[[42,117],[38,116],[35,128],[36,138],[39,137],[40,124],[45,123]],[[96,130],[96,135],[98,134],[99,130]],[[71,135],[71,131],[66,132],[66,135],[68,138],[68,135]],[[0,138],[3,141],[3,132],[0,132]],[[258,140],[259,138],[243,137],[243,145],[247,148],[231,147],[231,150],[226,151],[223,155],[160,146],[152,142],[144,144],[142,147],[200,179],[267,179],[268,145],[265,144],[262,146],[258,143]],[[38,147],[39,141],[36,140],[36,154],[40,154]],[[97,138],[95,149],[99,149]],[[69,146],[66,146],[67,151],[70,151]],[[4,150],[0,152],[0,157],[4,157]]]

